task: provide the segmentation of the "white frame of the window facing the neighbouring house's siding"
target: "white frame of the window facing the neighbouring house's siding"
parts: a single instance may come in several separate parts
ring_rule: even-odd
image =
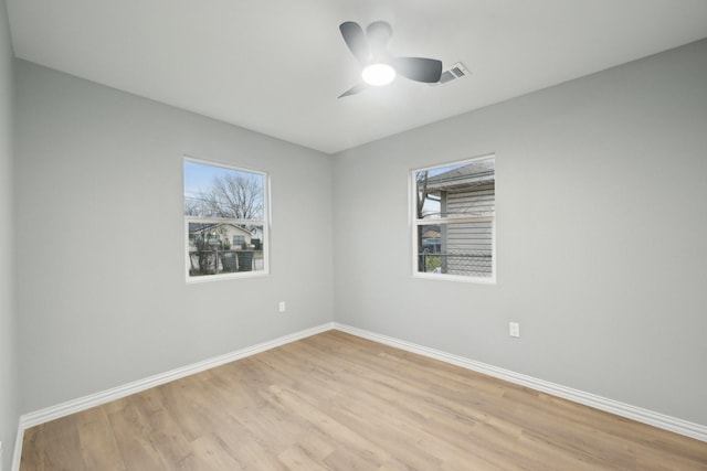
[[[412,169],[410,171],[410,232],[412,234],[412,247],[411,247],[411,271],[414,278],[423,278],[423,279],[433,279],[433,280],[443,280],[443,281],[462,281],[462,282],[473,282],[481,285],[495,285],[496,283],[496,211],[494,211],[493,216],[465,216],[465,217],[440,217],[435,220],[420,220],[418,218],[418,172],[443,169],[446,167],[453,167],[464,163],[471,163],[474,161],[486,160],[486,159],[496,159],[495,153],[488,153],[484,156],[474,157],[471,159],[463,159],[453,162],[445,162],[431,167],[422,167],[418,169]],[[496,171],[494,170],[494,205],[497,196],[497,185],[496,185]],[[481,223],[481,222],[490,222],[492,223],[492,276],[490,277],[479,277],[472,275],[452,275],[452,274],[436,274],[436,272],[425,272],[418,270],[419,256],[418,247],[418,227],[421,225],[430,225],[432,224],[452,224],[452,223]]]

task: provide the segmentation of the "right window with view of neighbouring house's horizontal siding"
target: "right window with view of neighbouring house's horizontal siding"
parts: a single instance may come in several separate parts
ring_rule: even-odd
[[[414,170],[412,178],[414,275],[494,281],[495,157]]]

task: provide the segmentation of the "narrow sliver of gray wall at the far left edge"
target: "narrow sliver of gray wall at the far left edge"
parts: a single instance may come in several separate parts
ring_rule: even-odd
[[[0,0],[0,441],[10,469],[18,431],[17,317],[14,309],[14,244],[12,239],[12,47],[4,0]]]

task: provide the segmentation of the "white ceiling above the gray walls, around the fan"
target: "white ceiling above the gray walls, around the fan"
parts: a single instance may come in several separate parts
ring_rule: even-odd
[[[18,57],[337,152],[707,36],[707,0],[8,0]],[[338,25],[471,76],[337,99]]]

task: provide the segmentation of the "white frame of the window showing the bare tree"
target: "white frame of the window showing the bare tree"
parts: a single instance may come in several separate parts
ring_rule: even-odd
[[[182,159],[182,214],[183,207],[186,205],[184,197],[184,163],[193,162],[202,165],[211,165],[211,167],[220,167],[228,170],[235,170],[239,172],[253,173],[256,175],[261,175],[263,179],[263,220],[235,220],[235,218],[221,218],[221,217],[201,217],[201,216],[188,216],[184,217],[184,278],[188,283],[200,283],[200,282],[210,282],[210,281],[222,281],[222,280],[231,280],[231,279],[241,279],[241,278],[256,278],[264,277],[270,275],[270,226],[271,226],[271,205],[270,205],[270,175],[267,172],[261,170],[246,169],[243,167],[236,167],[230,163],[217,162],[212,160],[203,160],[197,159],[190,156],[184,156]],[[257,225],[263,227],[263,269],[262,270],[252,270],[252,271],[233,271],[233,272],[221,272],[215,275],[203,275],[203,276],[190,276],[189,269],[191,267],[191,260],[189,255],[189,223],[201,222],[201,223],[231,223],[238,225]]]

